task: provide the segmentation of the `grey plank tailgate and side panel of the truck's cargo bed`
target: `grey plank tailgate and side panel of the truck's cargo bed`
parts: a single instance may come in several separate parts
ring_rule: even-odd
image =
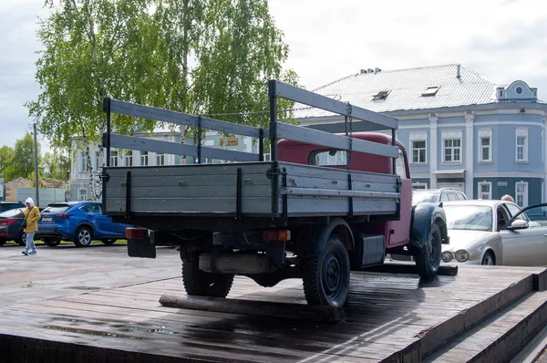
[[[397,175],[351,171],[350,191],[346,170],[289,162],[115,167],[105,172],[108,215],[395,215],[400,197]],[[348,198],[353,198],[351,204]]]

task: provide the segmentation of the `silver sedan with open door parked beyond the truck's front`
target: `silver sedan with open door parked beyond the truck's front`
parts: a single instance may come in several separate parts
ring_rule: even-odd
[[[547,203],[523,210],[503,201],[446,202],[450,244],[442,260],[467,264],[547,264]]]

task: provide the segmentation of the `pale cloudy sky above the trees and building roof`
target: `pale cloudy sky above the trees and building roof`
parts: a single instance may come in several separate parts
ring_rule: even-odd
[[[0,146],[32,129],[23,104],[39,93],[43,3],[0,0]],[[460,63],[498,84],[522,79],[547,99],[544,0],[270,0],[270,8],[290,47],[286,67],[308,89],[361,68]]]

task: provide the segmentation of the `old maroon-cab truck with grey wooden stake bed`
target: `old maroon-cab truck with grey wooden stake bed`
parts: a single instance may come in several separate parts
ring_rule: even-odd
[[[226,297],[234,275],[263,286],[302,278],[307,303],[324,306],[343,306],[350,271],[382,264],[390,252],[413,255],[422,278],[436,275],[441,244],[448,243],[445,214],[432,203],[412,207],[397,119],[277,80],[268,87],[269,130],[104,100],[107,161],[111,148],[196,158],[194,164],[103,169],[104,213],[139,226],[127,230],[129,255],[154,258],[158,245],[179,246],[191,296]],[[315,127],[326,131],[281,122],[278,98],[345,121]],[[116,134],[111,114],[191,126],[196,144]],[[202,130],[251,137],[259,152],[202,146]],[[202,158],[229,162],[201,164]]]

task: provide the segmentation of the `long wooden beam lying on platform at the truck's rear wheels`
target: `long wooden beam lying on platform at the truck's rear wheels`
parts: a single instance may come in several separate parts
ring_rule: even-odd
[[[346,314],[341,306],[307,306],[302,304],[264,303],[241,299],[223,299],[203,296],[160,297],[162,306],[191,310],[207,310],[222,313],[271,316],[275,318],[299,319],[320,322],[339,322]]]

